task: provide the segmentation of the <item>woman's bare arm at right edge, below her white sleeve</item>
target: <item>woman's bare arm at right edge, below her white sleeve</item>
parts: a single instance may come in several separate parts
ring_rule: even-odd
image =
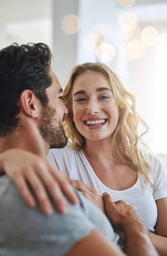
[[[160,256],[167,256],[167,198],[156,200],[158,218],[156,235],[150,233],[150,238]]]

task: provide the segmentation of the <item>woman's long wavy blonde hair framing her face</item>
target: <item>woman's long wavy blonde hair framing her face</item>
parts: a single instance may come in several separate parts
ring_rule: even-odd
[[[127,164],[136,172],[144,174],[147,181],[149,163],[144,153],[146,145],[141,137],[147,133],[148,126],[144,120],[136,113],[136,98],[129,93],[122,85],[118,76],[106,65],[101,63],[85,63],[77,65],[71,71],[69,80],[62,93],[62,101],[68,108],[68,115],[64,117],[63,126],[68,143],[74,150],[79,151],[85,146],[85,137],[79,133],[73,122],[73,96],[72,89],[74,81],[85,72],[98,72],[105,76],[110,84],[113,97],[119,107],[119,122],[116,130],[113,132],[111,141],[111,155],[116,163]],[[137,132],[138,125],[142,124],[145,128],[140,136]],[[153,185],[151,183],[151,185]]]

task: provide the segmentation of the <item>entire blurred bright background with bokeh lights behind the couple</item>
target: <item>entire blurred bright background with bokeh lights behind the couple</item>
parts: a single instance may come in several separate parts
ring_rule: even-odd
[[[62,86],[76,64],[107,64],[167,154],[167,0],[0,0],[0,48],[13,42],[48,44]]]

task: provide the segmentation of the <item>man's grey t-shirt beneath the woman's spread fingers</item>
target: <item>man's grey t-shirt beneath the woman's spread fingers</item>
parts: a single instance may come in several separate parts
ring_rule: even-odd
[[[80,204],[68,202],[68,213],[42,214],[29,208],[6,175],[0,177],[0,256],[60,256],[77,241],[99,229],[116,243],[119,236],[106,216],[79,195]]]

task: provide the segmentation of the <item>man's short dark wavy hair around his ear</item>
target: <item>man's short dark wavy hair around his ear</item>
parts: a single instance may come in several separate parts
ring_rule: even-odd
[[[48,102],[51,85],[51,50],[46,44],[11,44],[0,50],[0,137],[17,127],[18,101],[23,90],[31,90],[42,105]]]

